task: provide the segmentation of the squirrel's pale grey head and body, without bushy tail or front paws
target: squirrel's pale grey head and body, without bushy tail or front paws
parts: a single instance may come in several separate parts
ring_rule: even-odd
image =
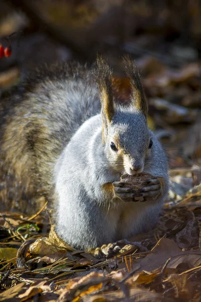
[[[148,129],[144,95],[141,100],[138,95],[135,107],[133,87],[130,105],[118,106],[112,93],[110,68],[99,60],[96,71],[101,114],[82,124],[64,148],[55,170],[57,232],[65,241],[82,249],[150,230],[168,191],[167,160],[160,143]],[[133,74],[137,74],[139,82],[139,73]],[[142,84],[138,83],[138,87]],[[153,140],[151,149],[148,148],[150,139]],[[117,152],[111,149],[111,141]],[[158,153],[163,157],[157,158]],[[77,164],[79,168],[75,169]],[[124,173],[135,174],[130,169],[135,165],[141,167],[138,172],[143,170],[162,179],[161,193],[144,203],[122,202],[115,195],[112,183],[119,181]]]

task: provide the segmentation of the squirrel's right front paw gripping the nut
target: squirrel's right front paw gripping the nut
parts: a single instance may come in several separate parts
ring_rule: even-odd
[[[155,179],[150,179],[143,182],[143,187],[140,189],[140,195],[149,200],[156,200],[161,194],[161,184],[160,181]]]

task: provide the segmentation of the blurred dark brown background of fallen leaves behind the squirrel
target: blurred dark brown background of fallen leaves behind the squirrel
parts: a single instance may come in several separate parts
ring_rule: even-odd
[[[172,198],[201,181],[201,3],[199,0],[0,1],[0,102],[9,88],[39,64],[97,53],[114,70],[124,102],[129,84],[122,55],[136,60],[149,102],[149,125],[163,142]]]

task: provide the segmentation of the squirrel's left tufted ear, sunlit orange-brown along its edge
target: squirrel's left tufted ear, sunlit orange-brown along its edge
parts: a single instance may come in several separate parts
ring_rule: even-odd
[[[114,96],[112,90],[112,70],[102,57],[97,57],[94,77],[102,104],[102,118],[106,127],[115,114]]]

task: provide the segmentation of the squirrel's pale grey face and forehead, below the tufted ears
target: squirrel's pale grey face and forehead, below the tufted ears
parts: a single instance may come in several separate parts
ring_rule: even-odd
[[[113,169],[131,175],[142,172],[151,138],[144,114],[131,106],[117,106],[107,133],[106,154]],[[110,148],[111,141],[117,151]]]

